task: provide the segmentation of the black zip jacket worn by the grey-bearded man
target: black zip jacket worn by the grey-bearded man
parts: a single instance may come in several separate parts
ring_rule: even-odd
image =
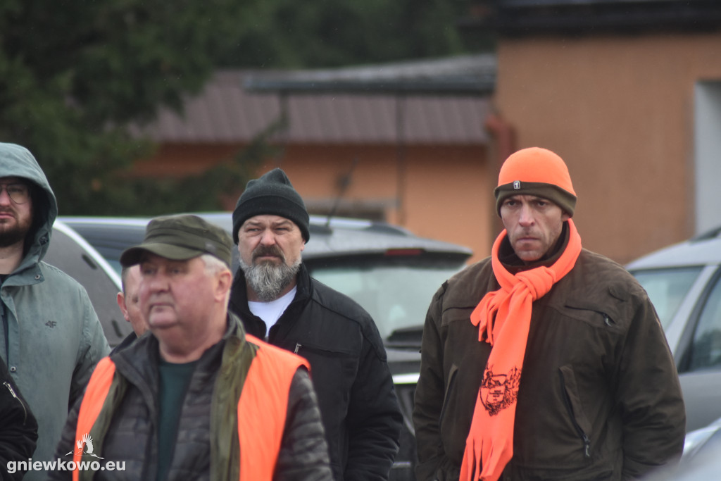
[[[229,308],[246,332],[265,338],[265,322],[248,308],[240,269]],[[402,416],[386,350],[370,314],[312,279],[301,265],[296,297],[271,327],[268,342],[298,353],[311,365],[335,479],[388,479]]]

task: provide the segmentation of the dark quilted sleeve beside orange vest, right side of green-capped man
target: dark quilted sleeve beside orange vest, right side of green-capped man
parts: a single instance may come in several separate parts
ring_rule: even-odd
[[[332,481],[323,425],[313,384],[298,369],[288,393],[288,416],[273,480]]]

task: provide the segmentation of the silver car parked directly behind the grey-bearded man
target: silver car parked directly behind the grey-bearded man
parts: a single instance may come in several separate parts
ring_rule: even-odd
[[[230,212],[199,213],[232,229]],[[110,265],[139,244],[149,219],[63,217]],[[414,480],[417,459],[412,423],[413,395],[420,371],[420,340],[430,299],[443,281],[464,267],[466,247],[424,239],[390,224],[311,216],[303,260],[318,281],[347,294],[375,319],[384,338],[389,367],[404,416],[401,449],[391,480]],[[234,249],[233,265],[238,266]]]

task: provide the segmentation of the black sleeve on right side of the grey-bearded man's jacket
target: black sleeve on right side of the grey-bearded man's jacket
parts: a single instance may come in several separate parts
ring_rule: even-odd
[[[387,480],[398,454],[402,422],[383,341],[369,318],[346,416],[348,460],[343,479]]]

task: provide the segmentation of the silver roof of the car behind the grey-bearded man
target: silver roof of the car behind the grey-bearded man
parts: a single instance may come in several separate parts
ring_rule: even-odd
[[[232,231],[231,212],[200,212],[195,215],[223,227],[229,233]],[[61,216],[59,219],[84,235],[83,227],[104,226],[104,229],[111,229],[113,235],[107,236],[106,231],[104,242],[117,244],[118,248],[123,248],[142,240],[145,226],[151,218]],[[341,257],[387,252],[398,254],[422,252],[430,255],[458,257],[459,260],[464,261],[472,255],[472,250],[468,247],[418,237],[406,229],[379,221],[344,218],[334,218],[328,221],[322,216],[311,216],[309,231],[310,239],[303,252],[304,260],[329,257],[329,255]],[[93,239],[88,238],[88,241],[94,244]],[[130,243],[128,243],[129,241]],[[102,252],[101,248],[98,250]]]

